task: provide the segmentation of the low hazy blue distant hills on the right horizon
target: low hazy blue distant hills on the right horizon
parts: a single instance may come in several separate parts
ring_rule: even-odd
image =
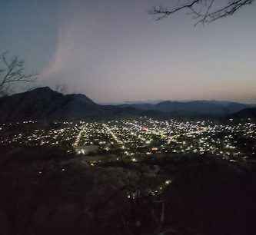
[[[158,104],[120,104],[119,107],[139,108],[162,112],[189,112],[190,114],[232,114],[248,108],[248,104],[228,101],[162,101]]]

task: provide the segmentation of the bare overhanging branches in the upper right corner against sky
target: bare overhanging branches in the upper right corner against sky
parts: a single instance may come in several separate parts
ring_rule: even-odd
[[[159,5],[151,8],[148,13],[150,15],[156,15],[156,19],[161,20],[175,12],[188,10],[188,14],[193,15],[196,20],[195,25],[204,25],[205,23],[214,22],[219,18],[233,15],[239,8],[249,5],[252,2],[254,0],[181,0],[172,8]]]

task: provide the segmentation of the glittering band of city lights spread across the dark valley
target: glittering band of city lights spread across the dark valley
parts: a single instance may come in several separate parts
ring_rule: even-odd
[[[246,152],[239,146],[238,138],[256,140],[256,125],[244,123],[214,124],[212,121],[157,121],[151,118],[105,122],[55,122],[51,128],[39,128],[34,121],[2,124],[1,144],[61,144],[69,141],[80,147],[78,154],[85,154],[82,147],[97,146],[98,154],[115,153],[131,156],[145,154],[214,154],[227,159],[248,157],[254,146]],[[5,133],[8,126],[16,131]],[[29,128],[29,125],[35,127]],[[244,143],[246,147],[247,143]]]

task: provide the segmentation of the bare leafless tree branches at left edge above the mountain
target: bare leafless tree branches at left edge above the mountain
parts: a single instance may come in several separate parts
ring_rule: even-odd
[[[25,61],[18,56],[8,57],[8,51],[2,54],[0,65],[0,97],[12,94],[20,84],[20,88],[26,88],[28,84],[36,80],[37,74],[25,73]]]

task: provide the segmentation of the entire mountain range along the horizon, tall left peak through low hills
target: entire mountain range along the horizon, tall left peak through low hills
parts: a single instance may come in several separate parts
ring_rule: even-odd
[[[61,94],[52,89],[36,88],[0,98],[0,122],[24,120],[82,120],[233,114],[248,104],[228,101],[163,101],[158,104],[101,105],[84,94]]]

